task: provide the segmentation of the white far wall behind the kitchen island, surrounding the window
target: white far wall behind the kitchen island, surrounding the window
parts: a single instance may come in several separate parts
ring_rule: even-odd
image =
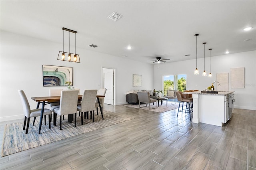
[[[206,72],[210,70],[210,57],[206,57]],[[204,71],[204,58],[198,59],[199,75],[194,75],[196,59],[154,65],[154,88],[162,89],[162,75],[187,75],[188,90],[204,90],[213,81],[216,73],[229,73],[229,90],[235,91],[235,108],[256,110],[256,51],[226,54],[211,57],[212,78],[202,76]],[[245,88],[230,87],[230,68],[245,67]],[[216,86],[216,84],[214,84]]]

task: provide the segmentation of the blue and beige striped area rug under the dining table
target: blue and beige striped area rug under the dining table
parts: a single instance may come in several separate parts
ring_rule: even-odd
[[[32,126],[33,121],[30,121],[28,134],[25,134],[26,130],[22,130],[23,122],[8,124],[4,129],[1,157],[133,119],[109,111],[104,111],[103,116],[104,120],[100,114],[95,114],[94,122],[84,119],[84,125],[81,125],[81,119],[77,114],[76,127],[74,122],[68,123],[66,116],[66,119],[62,120],[62,130],[60,130],[59,116],[57,116],[56,126],[51,123],[50,129],[48,119],[47,125],[44,125],[43,120],[40,134],[38,134],[39,117],[36,118],[34,126]]]

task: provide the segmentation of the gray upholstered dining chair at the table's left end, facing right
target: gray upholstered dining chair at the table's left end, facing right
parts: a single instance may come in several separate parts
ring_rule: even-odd
[[[26,121],[28,120],[27,123],[27,128],[26,128],[26,133],[28,133],[28,127],[29,127],[29,120],[30,117],[37,117],[41,115],[41,109],[30,109],[30,105],[28,103],[28,99],[26,97],[26,94],[24,93],[23,90],[18,90],[18,93],[20,94],[20,98],[22,101],[22,106],[23,106],[23,113],[25,115],[25,119],[24,119],[24,125],[23,125],[23,130],[25,130],[26,127]],[[46,119],[46,115],[48,115],[48,119],[49,119],[49,128],[51,128],[51,122],[50,122],[50,117],[52,115],[52,112],[49,109],[44,109],[44,119]],[[33,123],[34,125],[34,123]]]

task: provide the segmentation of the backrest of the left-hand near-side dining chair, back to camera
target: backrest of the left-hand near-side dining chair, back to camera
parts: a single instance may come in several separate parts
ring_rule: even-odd
[[[78,90],[62,90],[60,95],[60,115],[76,113]]]

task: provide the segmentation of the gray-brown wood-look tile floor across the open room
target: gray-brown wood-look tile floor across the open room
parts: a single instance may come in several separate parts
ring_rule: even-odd
[[[177,109],[104,110],[134,119],[2,157],[0,169],[256,170],[256,111],[235,109],[218,127],[191,123],[184,114],[177,119]]]

